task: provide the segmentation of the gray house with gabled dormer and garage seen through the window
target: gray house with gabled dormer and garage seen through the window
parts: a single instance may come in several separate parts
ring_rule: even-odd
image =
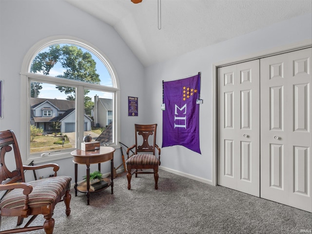
[[[42,128],[45,133],[53,132],[53,122],[60,122],[61,133],[75,132],[76,110],[75,101],[30,98],[30,121],[37,128]],[[84,115],[84,131],[91,131],[92,119]]]

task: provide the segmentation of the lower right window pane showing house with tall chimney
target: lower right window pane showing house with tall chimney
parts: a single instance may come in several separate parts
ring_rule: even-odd
[[[92,140],[99,141],[101,144],[110,145],[115,143],[113,140],[113,93],[87,89],[84,93],[84,111],[92,119],[91,131],[85,130],[84,136],[91,135]]]

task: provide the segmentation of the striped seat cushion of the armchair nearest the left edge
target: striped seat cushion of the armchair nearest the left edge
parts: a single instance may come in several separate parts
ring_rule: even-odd
[[[33,191],[29,194],[28,205],[30,208],[50,205],[62,191],[70,189],[70,176],[56,176],[29,182]],[[0,208],[22,209],[25,195],[22,189],[14,189],[3,197]]]

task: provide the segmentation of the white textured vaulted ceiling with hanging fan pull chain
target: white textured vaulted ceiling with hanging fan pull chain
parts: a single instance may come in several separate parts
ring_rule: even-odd
[[[144,66],[312,12],[312,0],[66,0],[112,25]],[[159,0],[160,1],[160,0]]]

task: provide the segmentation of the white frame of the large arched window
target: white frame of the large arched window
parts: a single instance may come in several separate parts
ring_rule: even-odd
[[[91,53],[96,55],[106,66],[112,78],[113,87],[30,73],[29,72],[30,66],[31,66],[33,59],[36,57],[36,55],[44,48],[51,46],[53,44],[77,45],[77,46],[80,46],[89,50]],[[49,37],[49,38],[40,40],[34,46],[32,46],[30,50],[27,52],[27,54],[25,55],[23,62],[22,62],[20,78],[21,78],[21,90],[20,90],[20,103],[21,103],[20,133],[21,133],[21,136],[20,136],[20,139],[22,140],[19,141],[20,142],[19,146],[20,146],[20,151],[23,152],[23,154],[21,154],[23,163],[25,164],[30,163],[32,160],[34,160],[34,163],[43,163],[43,162],[49,162],[53,160],[68,158],[68,157],[71,157],[70,152],[73,150],[73,149],[69,149],[67,151],[63,150],[60,154],[54,154],[51,156],[39,156],[39,155],[37,155],[36,157],[30,156],[30,153],[29,153],[30,152],[30,144],[29,144],[30,142],[30,134],[29,134],[30,80],[77,87],[76,122],[80,123],[76,125],[76,139],[77,139],[76,143],[78,146],[77,148],[80,148],[80,145],[81,145],[80,143],[83,142],[84,89],[98,90],[102,92],[112,92],[114,94],[114,100],[115,100],[113,104],[113,110],[114,110],[113,121],[115,124],[113,124],[114,126],[113,142],[114,143],[111,144],[110,146],[115,147],[115,148],[120,148],[120,145],[119,145],[119,141],[120,141],[120,89],[119,89],[119,81],[117,78],[117,72],[115,71],[109,59],[102,52],[100,52],[100,50],[96,46],[82,39],[78,39],[78,38],[70,37],[70,36],[55,36],[55,37]],[[27,153],[25,154],[25,152]]]

